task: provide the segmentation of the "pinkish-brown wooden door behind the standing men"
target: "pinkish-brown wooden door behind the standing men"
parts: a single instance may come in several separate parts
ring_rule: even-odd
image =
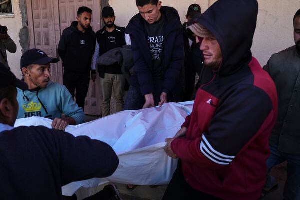
[[[29,45],[39,48],[49,56],[57,57],[58,43],[62,31],[76,20],[81,6],[92,9],[91,26],[96,32],[101,27],[100,0],[26,0]],[[52,81],[62,84],[62,62],[52,65]],[[101,115],[99,77],[95,83],[90,81],[85,99],[85,113]]]

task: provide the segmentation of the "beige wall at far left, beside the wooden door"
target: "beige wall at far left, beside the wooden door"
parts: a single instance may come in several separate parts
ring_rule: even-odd
[[[8,34],[17,46],[17,50],[15,53],[12,54],[7,51],[7,59],[12,72],[18,78],[20,78],[21,77],[20,58],[22,52],[20,46],[19,32],[20,29],[22,28],[22,18],[21,18],[21,11],[19,7],[19,0],[12,0],[12,7],[13,7],[14,16],[13,17],[9,16],[8,18],[5,16],[0,16],[0,24],[7,26]]]

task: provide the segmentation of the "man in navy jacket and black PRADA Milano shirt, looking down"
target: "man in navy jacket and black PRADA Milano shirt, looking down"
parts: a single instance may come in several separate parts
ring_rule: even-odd
[[[126,27],[135,73],[124,109],[181,101],[184,88],[183,35],[178,12],[158,0],[136,0],[139,13]]]

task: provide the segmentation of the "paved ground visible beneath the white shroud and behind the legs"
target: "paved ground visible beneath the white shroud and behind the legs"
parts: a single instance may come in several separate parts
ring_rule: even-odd
[[[87,116],[87,121],[94,120],[96,116]],[[279,187],[276,191],[273,191],[261,200],[282,200],[283,196],[283,187],[286,180],[286,162],[276,166],[271,171],[271,174],[278,181]],[[164,194],[164,191],[167,185],[160,185],[156,188],[152,188],[150,186],[138,186],[133,191],[128,191],[126,189],[126,185],[117,184],[119,191],[123,200],[160,200]],[[96,188],[81,188],[76,192],[78,200],[83,199],[91,194],[94,194],[97,191],[100,191],[103,186],[99,186]]]

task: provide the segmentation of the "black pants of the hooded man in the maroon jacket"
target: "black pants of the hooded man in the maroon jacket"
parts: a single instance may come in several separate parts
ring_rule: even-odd
[[[180,161],[179,161],[180,162]],[[163,195],[162,200],[219,200],[219,198],[192,188],[184,179],[178,163],[173,177]]]

